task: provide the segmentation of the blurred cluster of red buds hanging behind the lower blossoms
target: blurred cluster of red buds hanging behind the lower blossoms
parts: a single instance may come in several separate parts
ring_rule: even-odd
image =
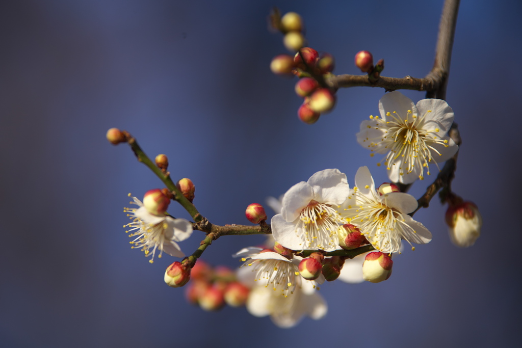
[[[238,282],[229,268],[212,268],[198,259],[192,268],[192,281],[188,284],[186,298],[189,303],[204,310],[219,310],[228,304],[232,307],[246,303],[250,289]]]

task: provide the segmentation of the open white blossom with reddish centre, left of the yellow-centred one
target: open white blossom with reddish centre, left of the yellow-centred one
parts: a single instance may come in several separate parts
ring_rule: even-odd
[[[349,192],[346,175],[338,169],[325,169],[295,184],[283,196],[281,213],[271,220],[274,238],[292,250],[335,250],[342,223],[336,207]]]

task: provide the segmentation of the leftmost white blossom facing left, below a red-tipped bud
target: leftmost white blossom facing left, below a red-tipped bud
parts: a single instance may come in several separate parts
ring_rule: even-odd
[[[154,261],[156,250],[159,249],[158,257],[163,252],[175,257],[184,257],[183,251],[176,242],[187,239],[192,234],[192,224],[185,219],[174,219],[168,215],[153,215],[145,209],[143,203],[136,197],[134,202],[139,208],[124,208],[127,216],[132,222],[124,225],[129,228],[125,232],[131,232],[129,237],[135,237],[131,244],[132,248],[139,248],[145,252],[145,256],[151,256],[150,263]],[[152,252],[151,252],[152,251]]]

